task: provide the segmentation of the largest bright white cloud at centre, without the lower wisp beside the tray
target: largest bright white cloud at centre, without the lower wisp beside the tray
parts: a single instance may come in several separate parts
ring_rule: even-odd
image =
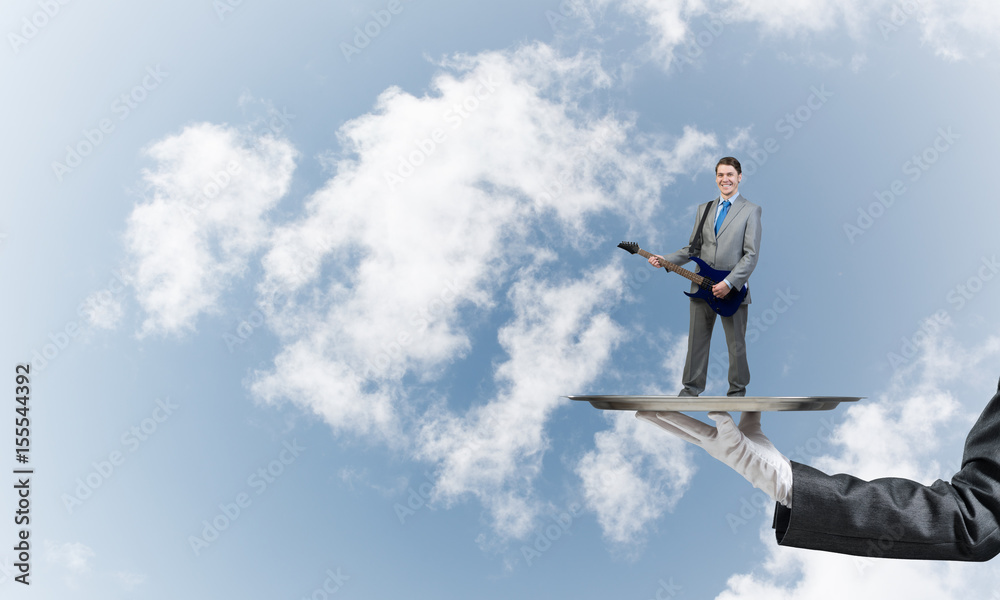
[[[271,322],[288,343],[260,397],[391,436],[402,379],[433,379],[470,351],[463,311],[491,310],[515,269],[553,258],[532,241],[540,226],[585,248],[588,218],[642,222],[676,172],[660,158],[670,150],[627,149],[630,122],[564,99],[610,84],[596,57],[536,45],[447,68],[434,95],[389,89],[347,123],[350,157],[276,231],[261,296],[279,295]],[[710,143],[690,130],[677,155]]]

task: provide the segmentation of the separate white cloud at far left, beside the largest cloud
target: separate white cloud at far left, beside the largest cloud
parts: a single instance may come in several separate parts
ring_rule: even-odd
[[[264,215],[288,191],[294,150],[207,123],[153,144],[149,197],[126,241],[132,284],[147,318],[140,335],[191,331],[243,274],[267,237]]]

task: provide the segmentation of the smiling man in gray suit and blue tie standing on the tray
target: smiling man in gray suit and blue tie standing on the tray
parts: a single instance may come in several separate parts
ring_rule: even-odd
[[[761,208],[740,194],[743,170],[740,161],[731,156],[715,165],[715,183],[719,197],[698,207],[694,230],[688,245],[666,256],[653,255],[649,264],[661,267],[665,262],[683,265],[691,256],[698,256],[714,269],[730,271],[729,275],[712,288],[712,294],[724,298],[730,290],[740,290],[750,279],[757,266],[760,248]],[[698,290],[691,284],[691,292]],[[722,319],[729,349],[729,396],[745,396],[750,383],[750,365],[747,362],[746,331],[747,305],[750,293],[739,309]],[[691,319],[688,326],[688,350],[684,362],[681,396],[697,396],[705,391],[708,378],[708,351],[715,327],[715,312],[707,302],[692,298]]]

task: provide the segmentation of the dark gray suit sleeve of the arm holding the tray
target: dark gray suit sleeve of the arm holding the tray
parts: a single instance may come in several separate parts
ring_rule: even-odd
[[[863,481],[792,463],[792,508],[778,544],[857,556],[990,560],[1000,553],[1000,386],[965,441],[950,483]]]

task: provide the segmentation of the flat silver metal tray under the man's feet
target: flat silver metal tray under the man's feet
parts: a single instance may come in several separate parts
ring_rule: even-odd
[[[565,396],[570,400],[590,402],[604,410],[655,411],[777,411],[833,410],[841,402],[857,402],[864,396]]]

